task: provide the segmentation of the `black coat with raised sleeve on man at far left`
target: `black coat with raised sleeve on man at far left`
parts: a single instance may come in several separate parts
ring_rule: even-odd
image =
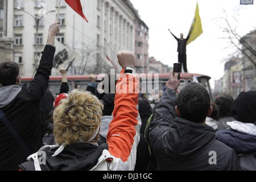
[[[14,100],[2,108],[11,125],[27,143],[31,154],[43,145],[40,127],[42,119],[39,115],[40,100],[48,87],[54,53],[55,47],[44,48],[34,80],[29,85],[23,85]],[[0,154],[0,170],[18,170],[18,165],[27,158],[22,147],[2,122],[0,122]]]

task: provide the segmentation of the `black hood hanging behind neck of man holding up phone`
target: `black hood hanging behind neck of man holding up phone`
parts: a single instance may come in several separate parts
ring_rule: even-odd
[[[212,127],[204,123],[195,123],[182,118],[175,118],[165,138],[164,146],[171,158],[187,160],[200,154],[216,139]]]

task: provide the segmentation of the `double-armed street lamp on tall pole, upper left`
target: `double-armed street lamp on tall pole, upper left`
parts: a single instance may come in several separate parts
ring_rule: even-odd
[[[39,7],[39,9],[42,9],[42,8],[43,8],[43,6],[38,6],[38,7]],[[19,10],[19,11],[23,11],[24,13],[30,15],[30,16],[35,20],[35,22],[36,22],[36,67],[37,67],[38,60],[39,60],[39,56],[38,56],[38,27],[39,27],[39,22],[40,22],[40,20],[41,20],[44,16],[46,16],[46,15],[49,14],[49,13],[53,13],[53,12],[55,12],[56,10],[53,9],[53,10],[51,10],[51,11],[48,11],[46,14],[34,16],[34,15],[32,15],[31,13],[29,13],[28,11],[26,11],[26,10],[24,10],[24,9],[21,9],[20,7],[15,7],[14,9],[15,9],[15,10]],[[35,71],[36,71],[36,69],[35,69]],[[33,73],[33,76],[34,76],[34,73]]]

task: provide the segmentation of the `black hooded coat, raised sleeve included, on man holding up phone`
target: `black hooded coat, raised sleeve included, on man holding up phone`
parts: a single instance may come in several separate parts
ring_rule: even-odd
[[[168,89],[150,123],[150,146],[158,170],[240,170],[236,152],[216,140],[203,123],[175,118],[176,94]],[[174,119],[175,118],[175,119]],[[216,164],[210,164],[216,152]]]

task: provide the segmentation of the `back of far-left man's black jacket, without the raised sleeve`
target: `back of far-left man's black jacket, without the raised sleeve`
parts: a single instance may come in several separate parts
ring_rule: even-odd
[[[38,118],[39,102],[32,101],[26,93],[27,87],[24,85],[16,98],[2,110],[31,152],[35,152],[43,144]],[[18,169],[16,164],[24,162],[27,156],[3,122],[0,122],[0,138],[0,169]]]

